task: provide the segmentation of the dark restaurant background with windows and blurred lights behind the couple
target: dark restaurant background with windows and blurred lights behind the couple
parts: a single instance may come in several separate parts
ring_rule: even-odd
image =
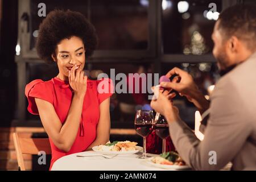
[[[192,74],[200,90],[209,97],[209,88],[220,77],[212,55],[211,37],[217,14],[208,12],[215,3],[217,12],[236,3],[254,1],[207,0],[0,0],[0,169],[17,169],[11,133],[16,127],[33,137],[44,133],[38,115],[27,111],[25,85],[35,79],[56,76],[55,64],[38,58],[35,42],[44,17],[38,16],[39,3],[46,13],[54,9],[80,11],[96,27],[99,44],[92,57],[86,58],[90,77],[100,73],[166,74],[179,67]],[[117,81],[115,82],[117,83]],[[111,139],[136,139],[132,132],[137,109],[150,104],[146,94],[117,94],[111,98]],[[174,103],[183,120],[193,129],[196,108],[177,96]],[[121,130],[123,129],[123,130]],[[124,133],[122,133],[122,132]],[[36,169],[27,158],[27,166]]]

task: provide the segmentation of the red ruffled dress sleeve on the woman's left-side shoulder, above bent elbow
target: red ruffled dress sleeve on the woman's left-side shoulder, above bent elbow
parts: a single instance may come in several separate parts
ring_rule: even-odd
[[[40,98],[45,100],[51,104],[53,104],[53,94],[52,90],[43,80],[34,80],[31,81],[29,84],[26,85],[25,88],[25,95],[28,100],[28,107],[27,110],[31,114],[39,114],[38,107],[35,103],[35,98]]]

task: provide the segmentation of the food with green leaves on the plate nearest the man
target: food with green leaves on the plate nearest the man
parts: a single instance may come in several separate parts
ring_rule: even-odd
[[[180,158],[179,154],[172,151],[160,154],[160,156],[155,156],[151,159],[151,161],[155,164],[177,165],[177,166],[185,165],[185,162]]]

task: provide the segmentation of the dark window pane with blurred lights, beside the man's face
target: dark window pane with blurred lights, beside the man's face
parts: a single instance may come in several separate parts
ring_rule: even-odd
[[[211,39],[217,13],[207,12],[210,3],[221,11],[221,1],[163,0],[162,40],[164,54],[203,55],[213,48]]]

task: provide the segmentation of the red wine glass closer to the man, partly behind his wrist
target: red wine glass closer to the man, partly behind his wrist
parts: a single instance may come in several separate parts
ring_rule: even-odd
[[[163,115],[156,113],[155,134],[163,139],[162,153],[166,153],[166,138],[170,136],[169,125]]]

